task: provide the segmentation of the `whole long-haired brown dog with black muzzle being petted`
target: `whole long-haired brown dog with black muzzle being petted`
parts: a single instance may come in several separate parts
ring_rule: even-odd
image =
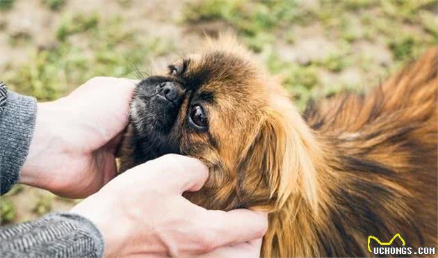
[[[268,211],[263,257],[373,256],[368,236],[397,233],[436,247],[438,48],[366,95],[303,114],[261,67],[222,35],[138,83],[120,170],[168,153],[201,159],[209,179],[185,196]]]

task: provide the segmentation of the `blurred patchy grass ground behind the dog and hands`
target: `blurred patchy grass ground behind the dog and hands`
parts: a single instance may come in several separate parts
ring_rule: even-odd
[[[229,29],[303,108],[376,86],[437,45],[438,1],[0,0],[0,79],[49,101],[92,76],[153,74]],[[1,197],[0,223],[76,202],[19,185]]]

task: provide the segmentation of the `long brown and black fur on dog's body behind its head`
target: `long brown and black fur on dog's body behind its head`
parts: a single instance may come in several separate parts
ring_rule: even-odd
[[[318,215],[307,205],[271,214],[263,256],[363,257],[369,235],[396,233],[408,246],[437,245],[437,67],[433,48],[366,95],[307,107],[321,144],[311,153],[321,159]]]

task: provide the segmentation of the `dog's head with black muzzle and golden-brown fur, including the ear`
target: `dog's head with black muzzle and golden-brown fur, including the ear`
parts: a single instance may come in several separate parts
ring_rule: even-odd
[[[186,193],[203,207],[272,211],[293,194],[314,202],[313,136],[279,83],[232,36],[207,39],[200,53],[141,81],[131,128],[135,163],[177,153],[209,166],[204,188]]]

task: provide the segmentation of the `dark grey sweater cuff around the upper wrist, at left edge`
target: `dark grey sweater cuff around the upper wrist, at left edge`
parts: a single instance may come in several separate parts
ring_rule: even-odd
[[[0,194],[17,183],[29,152],[37,112],[36,100],[7,92],[0,114]]]

